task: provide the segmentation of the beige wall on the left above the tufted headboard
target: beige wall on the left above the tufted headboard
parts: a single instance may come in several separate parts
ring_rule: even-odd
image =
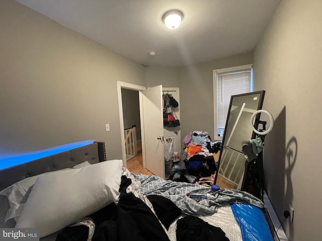
[[[108,159],[121,159],[117,80],[145,85],[144,67],[0,1],[0,153],[94,139],[106,143]]]

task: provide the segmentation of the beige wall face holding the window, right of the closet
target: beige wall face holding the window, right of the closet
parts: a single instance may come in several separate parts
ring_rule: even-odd
[[[180,68],[182,139],[191,131],[207,131],[214,139],[213,70],[252,63],[251,52]]]

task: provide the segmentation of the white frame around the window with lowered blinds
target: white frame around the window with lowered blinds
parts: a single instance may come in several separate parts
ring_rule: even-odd
[[[234,67],[222,68],[222,69],[215,69],[212,71],[213,73],[213,103],[214,103],[214,140],[221,141],[222,137],[218,137],[218,123],[217,123],[217,116],[218,116],[218,109],[217,109],[217,75],[226,72],[238,72],[245,69],[251,69],[251,90],[253,92],[253,64],[246,64],[246,65],[239,65]]]

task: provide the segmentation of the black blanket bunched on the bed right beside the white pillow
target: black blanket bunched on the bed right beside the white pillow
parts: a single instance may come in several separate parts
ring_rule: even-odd
[[[170,224],[181,214],[179,209],[169,199],[150,195],[156,215],[152,210],[133,193],[126,193],[126,188],[131,184],[131,179],[122,176],[120,186],[120,199],[118,205],[112,203],[99,210],[89,218],[95,223],[93,241],[147,241],[169,240],[163,226],[169,228]],[[89,228],[86,225],[71,226],[63,229],[56,241],[87,240]]]

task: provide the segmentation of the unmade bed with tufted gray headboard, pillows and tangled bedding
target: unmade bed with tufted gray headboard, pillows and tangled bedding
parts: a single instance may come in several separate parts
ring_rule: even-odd
[[[0,170],[0,190],[0,227],[41,240],[274,240],[253,195],[133,174],[102,142]]]

